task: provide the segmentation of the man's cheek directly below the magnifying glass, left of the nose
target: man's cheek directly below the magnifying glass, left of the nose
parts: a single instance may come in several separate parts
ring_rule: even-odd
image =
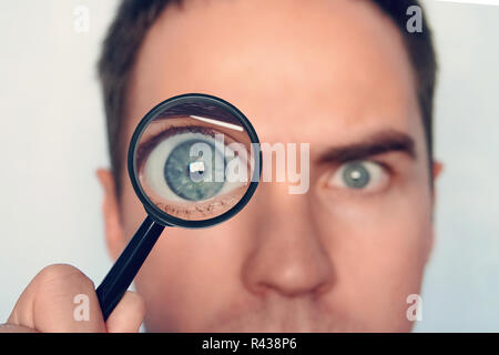
[[[203,329],[241,295],[242,245],[231,222],[202,229],[166,227],[138,277],[154,331]]]

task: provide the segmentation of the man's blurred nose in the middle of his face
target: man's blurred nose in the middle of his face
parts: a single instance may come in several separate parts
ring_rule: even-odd
[[[328,251],[316,232],[310,199],[285,183],[261,183],[243,280],[254,294],[286,297],[325,293],[334,281]]]

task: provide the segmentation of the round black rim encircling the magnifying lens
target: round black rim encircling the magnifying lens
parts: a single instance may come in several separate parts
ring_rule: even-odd
[[[182,220],[182,219],[175,217],[175,216],[170,215],[166,212],[160,210],[147,197],[147,195],[145,194],[141,184],[139,183],[139,176],[138,176],[135,159],[134,159],[135,152],[138,149],[138,143],[140,142],[142,133],[144,132],[144,130],[146,129],[149,123],[152,120],[154,120],[164,110],[166,110],[171,106],[184,103],[184,102],[190,102],[190,101],[204,101],[204,102],[220,105],[224,110],[227,110],[235,118],[237,118],[240,120],[240,122],[243,124],[244,129],[246,130],[251,142],[256,143],[257,152],[254,152],[254,154],[255,154],[255,156],[258,156],[257,161],[255,162],[255,169],[253,171],[252,181],[249,182],[249,186],[247,187],[243,197],[231,210],[224,212],[223,214],[215,216],[213,219],[200,220],[200,221]],[[253,144],[253,146],[255,146],[255,144]],[[135,131],[133,132],[132,139],[130,141],[129,155],[128,155],[128,170],[129,170],[130,181],[132,182],[132,186],[133,186],[133,190],[135,191],[135,194],[138,195],[139,200],[144,205],[144,209],[147,212],[147,214],[156,223],[160,223],[162,225],[169,225],[169,226],[182,226],[182,227],[186,227],[186,229],[208,227],[208,226],[216,225],[218,223],[222,223],[222,222],[233,217],[249,202],[253,194],[255,193],[256,187],[259,182],[259,175],[262,173],[262,151],[259,148],[259,139],[258,139],[258,135],[256,134],[255,129],[249,123],[249,120],[232,103],[230,103],[221,98],[210,95],[210,94],[185,93],[185,94],[181,94],[181,95],[176,95],[176,97],[166,99],[163,102],[160,102],[144,115],[144,118],[141,120],[141,122],[138,124]]]

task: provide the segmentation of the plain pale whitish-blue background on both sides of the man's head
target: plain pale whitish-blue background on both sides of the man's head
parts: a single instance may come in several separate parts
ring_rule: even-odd
[[[499,7],[424,2],[440,77],[437,243],[419,332],[499,331]],[[74,31],[74,8],[90,31]],[[0,323],[43,266],[111,266],[95,168],[109,164],[95,61],[116,1],[18,0],[0,12]]]

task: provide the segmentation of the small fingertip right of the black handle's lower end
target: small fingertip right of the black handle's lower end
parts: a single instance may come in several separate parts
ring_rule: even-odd
[[[110,314],[105,325],[109,333],[136,333],[145,315],[142,297],[134,292],[126,292],[114,311]]]

